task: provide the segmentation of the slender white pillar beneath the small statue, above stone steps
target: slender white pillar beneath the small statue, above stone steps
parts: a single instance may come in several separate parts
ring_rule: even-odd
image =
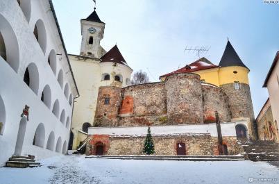
[[[15,155],[20,156],[22,153],[22,146],[24,143],[25,131],[26,131],[27,119],[22,117],[19,122],[19,130],[17,133],[17,143],[15,144]]]

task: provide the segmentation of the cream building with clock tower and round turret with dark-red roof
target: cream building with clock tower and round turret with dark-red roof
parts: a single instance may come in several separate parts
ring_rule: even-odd
[[[74,106],[69,149],[77,149],[86,139],[88,127],[93,126],[99,87],[130,84],[133,69],[127,65],[117,45],[108,52],[100,45],[104,30],[105,23],[94,10],[89,17],[81,19],[80,55],[69,55],[80,90]]]

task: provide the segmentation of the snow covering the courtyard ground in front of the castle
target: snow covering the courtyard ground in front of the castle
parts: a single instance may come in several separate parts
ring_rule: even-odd
[[[172,184],[172,183],[249,183],[248,178],[277,178],[278,167],[267,162],[192,162],[167,160],[109,160],[60,156],[40,160],[42,167],[0,168],[2,184]]]

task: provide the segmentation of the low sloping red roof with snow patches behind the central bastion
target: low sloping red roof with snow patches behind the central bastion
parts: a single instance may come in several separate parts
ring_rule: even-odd
[[[207,58],[200,58],[200,59],[196,60],[195,62],[192,62],[189,65],[186,65],[183,68],[180,68],[169,74],[164,74],[163,76],[160,76],[160,77],[171,76],[172,74],[196,72],[196,71],[203,70],[203,69],[211,69],[211,68],[217,68],[217,67],[218,67],[217,65],[214,65]]]

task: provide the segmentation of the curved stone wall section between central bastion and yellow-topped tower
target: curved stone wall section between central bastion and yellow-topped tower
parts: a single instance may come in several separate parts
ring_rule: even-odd
[[[228,97],[220,87],[203,84],[203,121],[204,123],[215,122],[215,110],[219,113],[221,122],[230,122],[230,110]]]

